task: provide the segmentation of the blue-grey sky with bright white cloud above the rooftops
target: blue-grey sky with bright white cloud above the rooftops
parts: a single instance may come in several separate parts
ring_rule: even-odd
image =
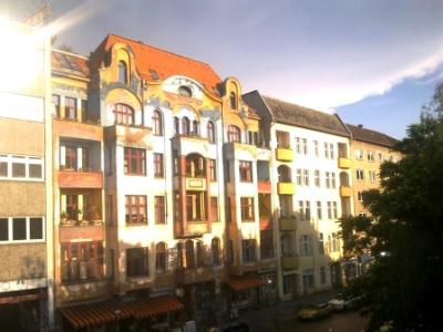
[[[42,0],[2,0],[22,13]],[[204,61],[243,91],[393,137],[443,80],[442,0],[50,0],[56,45],[87,55],[107,33]],[[1,10],[1,9],[0,9]]]

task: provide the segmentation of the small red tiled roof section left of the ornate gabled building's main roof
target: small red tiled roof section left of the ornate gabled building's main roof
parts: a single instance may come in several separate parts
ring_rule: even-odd
[[[53,71],[61,71],[83,77],[89,77],[90,74],[87,58],[60,50],[52,50],[51,68]]]

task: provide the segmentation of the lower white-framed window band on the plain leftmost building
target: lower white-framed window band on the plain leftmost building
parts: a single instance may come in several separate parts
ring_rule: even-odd
[[[0,242],[44,240],[42,217],[0,218]]]

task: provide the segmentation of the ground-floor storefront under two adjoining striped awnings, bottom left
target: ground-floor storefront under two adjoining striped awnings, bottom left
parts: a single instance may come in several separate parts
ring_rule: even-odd
[[[172,295],[109,300],[61,309],[63,331],[169,331],[183,325],[184,305]]]

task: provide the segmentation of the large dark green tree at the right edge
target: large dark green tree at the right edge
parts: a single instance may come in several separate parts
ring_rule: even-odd
[[[403,157],[381,166],[379,190],[363,193],[372,218],[340,220],[344,250],[371,252],[367,274],[346,289],[360,297],[369,331],[441,331],[443,311],[443,82],[420,123],[394,149]]]

